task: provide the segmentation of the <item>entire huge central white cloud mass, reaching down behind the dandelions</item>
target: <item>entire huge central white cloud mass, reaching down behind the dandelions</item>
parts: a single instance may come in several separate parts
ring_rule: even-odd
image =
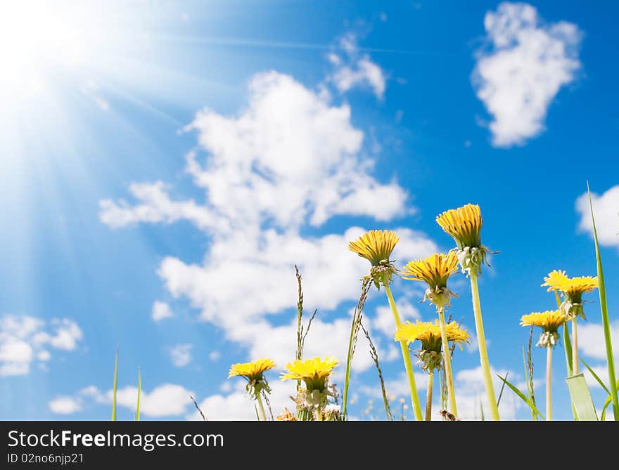
[[[101,220],[118,227],[184,219],[204,230],[209,247],[200,263],[167,256],[158,275],[174,298],[189,300],[226,339],[245,346],[252,358],[269,355],[279,367],[293,355],[296,326],[292,321],[274,326],[269,316],[295,308],[296,263],[305,307],[319,310],[306,355],[345,360],[350,318],[327,321],[321,311],[359,298],[359,278],[369,264],[348,251],[347,242],[364,228],[321,236],[302,236],[301,229],[336,215],[385,223],[411,210],[407,195],[395,181],[385,184],[371,175],[374,162],[362,153],[364,135],[352,126],[347,105],[333,106],[277,72],[255,75],[249,91],[248,107],[236,117],[205,109],[187,128],[197,132],[199,149],[186,157],[186,171],[205,190],[204,205],[191,205],[192,214],[203,216],[180,210],[183,201],[170,209],[165,185],[155,183],[156,197],[143,197],[132,186],[136,205],[102,202]],[[401,239],[395,259],[437,249],[423,233],[395,230]],[[393,351],[388,347],[385,355]],[[371,367],[367,354],[358,354],[356,361],[359,370]]]

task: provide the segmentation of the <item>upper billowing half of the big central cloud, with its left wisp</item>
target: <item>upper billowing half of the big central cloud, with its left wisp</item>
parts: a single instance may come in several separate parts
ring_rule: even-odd
[[[101,201],[101,220],[112,227],[137,221],[180,219],[216,233],[248,230],[271,221],[279,228],[320,226],[338,214],[388,220],[404,213],[406,192],[378,183],[374,162],[360,157],[363,133],[350,123],[350,107],[331,106],[292,77],[277,72],[250,81],[250,105],[237,117],[205,109],[188,130],[208,152],[196,152],[187,171],[208,193],[208,206],[172,202],[160,182],[134,184],[136,204]]]

